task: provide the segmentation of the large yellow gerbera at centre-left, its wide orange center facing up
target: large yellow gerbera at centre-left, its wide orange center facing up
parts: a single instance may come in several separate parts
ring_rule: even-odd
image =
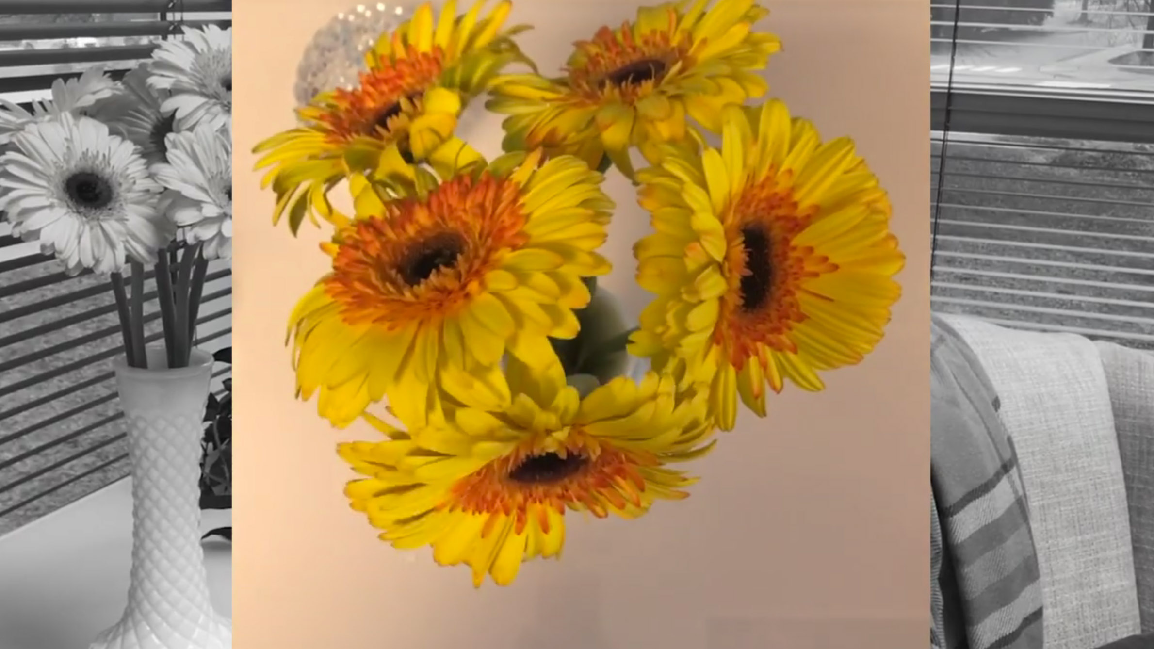
[[[610,268],[594,252],[614,207],[604,177],[539,151],[467,169],[412,197],[362,193],[355,219],[323,246],[332,271],[297,305],[290,333],[299,394],[320,389],[334,425],[385,395],[424,404],[445,366],[492,366],[505,351],[537,364],[546,336],[577,334],[583,277]]]

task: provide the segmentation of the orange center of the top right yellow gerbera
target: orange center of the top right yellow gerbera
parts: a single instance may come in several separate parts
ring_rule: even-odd
[[[634,37],[629,22],[617,30],[602,27],[592,40],[577,43],[584,61],[569,68],[570,85],[591,102],[600,102],[607,95],[634,102],[650,94],[674,65],[692,65],[688,60],[688,35],[673,40],[676,25],[677,15],[670,9],[668,30],[649,31],[639,39]]]

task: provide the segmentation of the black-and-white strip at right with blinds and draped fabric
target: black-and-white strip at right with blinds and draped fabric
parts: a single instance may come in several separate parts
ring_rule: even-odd
[[[1154,2],[930,16],[930,647],[1154,647]]]

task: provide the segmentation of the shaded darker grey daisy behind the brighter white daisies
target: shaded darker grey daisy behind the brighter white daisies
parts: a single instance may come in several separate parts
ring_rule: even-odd
[[[118,84],[117,92],[98,103],[90,114],[136,144],[152,165],[167,159],[164,139],[174,130],[175,115],[162,109],[168,91],[151,88],[148,79],[145,66],[133,69]]]

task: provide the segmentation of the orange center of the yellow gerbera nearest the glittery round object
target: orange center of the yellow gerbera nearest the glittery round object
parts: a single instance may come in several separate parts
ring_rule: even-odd
[[[444,59],[440,47],[421,52],[412,46],[404,57],[382,57],[376,68],[361,73],[357,88],[336,90],[334,110],[320,117],[329,140],[400,139],[412,115],[420,112],[421,97],[444,72]]]

